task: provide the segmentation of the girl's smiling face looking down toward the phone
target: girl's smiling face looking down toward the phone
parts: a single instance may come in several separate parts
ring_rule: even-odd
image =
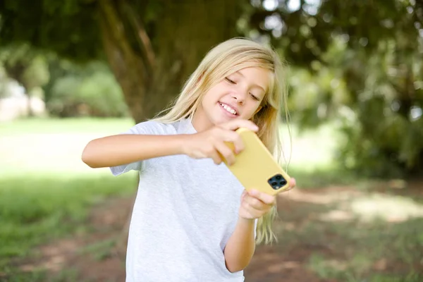
[[[192,124],[201,131],[233,118],[252,118],[261,109],[269,78],[269,70],[257,67],[226,76],[204,94]]]

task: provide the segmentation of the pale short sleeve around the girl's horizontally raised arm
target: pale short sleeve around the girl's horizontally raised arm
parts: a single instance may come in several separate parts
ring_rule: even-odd
[[[155,121],[145,121],[137,123],[129,130],[120,133],[125,134],[139,134],[139,135],[163,135],[165,134],[164,128],[160,123]],[[121,166],[111,166],[110,171],[114,176],[119,176],[128,171],[142,171],[145,161],[135,161],[131,164],[123,164]]]

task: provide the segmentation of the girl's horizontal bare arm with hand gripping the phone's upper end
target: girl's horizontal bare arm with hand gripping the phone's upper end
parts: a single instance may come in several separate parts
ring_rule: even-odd
[[[233,130],[245,127],[257,131],[251,121],[236,119],[214,126],[201,133],[188,135],[142,135],[121,134],[90,141],[82,152],[82,161],[92,168],[121,166],[173,154],[187,154],[195,159],[212,158],[220,164],[220,155],[228,163],[234,159],[233,152],[225,142],[233,142],[240,152],[243,142]],[[220,155],[219,155],[220,154]]]

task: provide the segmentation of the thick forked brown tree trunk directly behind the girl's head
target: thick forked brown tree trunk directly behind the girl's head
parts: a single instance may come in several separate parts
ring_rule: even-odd
[[[165,109],[207,51],[236,35],[238,1],[162,2],[154,34],[148,34],[155,56],[154,66],[149,66],[142,47],[131,40],[146,33],[140,30],[142,23],[127,23],[131,15],[125,10],[100,1],[104,49],[137,123]]]

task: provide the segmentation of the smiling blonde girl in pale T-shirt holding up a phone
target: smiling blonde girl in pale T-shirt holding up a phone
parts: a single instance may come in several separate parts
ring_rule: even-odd
[[[209,51],[167,114],[85,147],[92,168],[140,172],[127,282],[244,281],[255,243],[273,237],[276,198],[245,192],[222,162],[234,161],[224,142],[243,150],[234,130],[245,127],[278,152],[282,68],[271,49],[230,39]]]

